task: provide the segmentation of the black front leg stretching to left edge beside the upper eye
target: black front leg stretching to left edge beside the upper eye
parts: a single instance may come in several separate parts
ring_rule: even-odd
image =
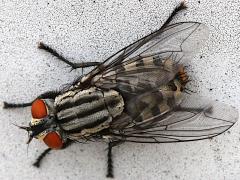
[[[48,91],[45,92],[41,95],[39,95],[36,99],[55,99],[57,95],[59,95],[60,92],[58,91]],[[35,100],[35,99],[34,99]],[[34,101],[33,100],[33,101]],[[33,102],[32,101],[32,102]],[[4,109],[9,109],[9,108],[22,108],[22,107],[28,107],[32,105],[32,102],[27,102],[27,103],[8,103],[8,102],[3,102],[3,108]]]

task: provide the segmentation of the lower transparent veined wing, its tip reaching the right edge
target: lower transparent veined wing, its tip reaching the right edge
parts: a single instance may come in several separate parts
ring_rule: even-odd
[[[113,126],[113,137],[139,143],[167,143],[217,136],[238,120],[238,111],[218,101],[186,96],[179,108],[165,115],[156,114],[139,123],[125,117],[125,127]],[[126,123],[128,121],[128,123]]]

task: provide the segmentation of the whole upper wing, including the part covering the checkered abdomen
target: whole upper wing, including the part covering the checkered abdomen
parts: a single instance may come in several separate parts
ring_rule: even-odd
[[[207,37],[208,28],[198,22],[169,25],[120,50],[88,77],[92,85],[100,88],[119,86],[120,91],[128,93],[147,91],[171,80],[177,71],[176,63],[189,60]],[[175,64],[166,67],[166,60]]]

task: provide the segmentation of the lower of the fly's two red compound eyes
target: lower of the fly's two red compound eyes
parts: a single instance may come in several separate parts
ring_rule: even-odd
[[[44,143],[52,149],[61,149],[63,146],[63,141],[60,135],[56,132],[48,133],[43,139]]]

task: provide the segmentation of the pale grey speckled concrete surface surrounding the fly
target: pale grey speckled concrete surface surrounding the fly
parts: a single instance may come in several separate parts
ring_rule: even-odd
[[[38,50],[43,41],[65,57],[103,61],[158,29],[176,0],[0,1],[0,100],[30,101],[81,74]],[[191,89],[239,109],[240,1],[187,1],[176,22],[210,29],[191,62]],[[200,58],[202,56],[202,58]],[[86,71],[85,71],[86,72]],[[0,179],[105,179],[106,145],[75,144],[52,152],[40,169],[31,166],[45,145],[12,123],[28,124],[30,110],[0,110]],[[124,144],[114,149],[116,179],[240,179],[240,125],[212,140],[178,144]]]

